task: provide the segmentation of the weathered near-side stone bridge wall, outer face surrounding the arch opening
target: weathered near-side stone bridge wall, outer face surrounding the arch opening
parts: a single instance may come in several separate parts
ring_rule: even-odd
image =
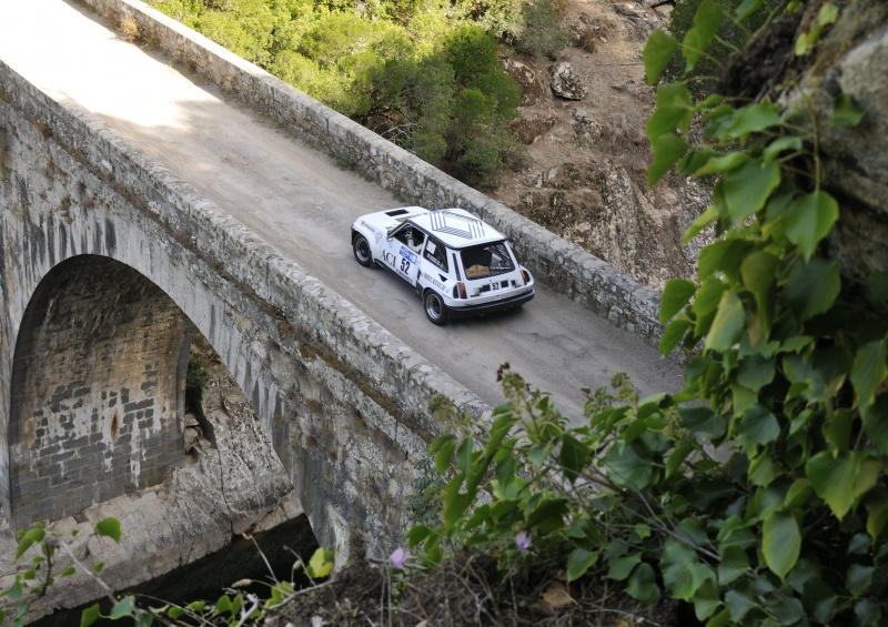
[[[216,211],[63,94],[0,61],[0,397],[37,286],[99,255],[158,285],[210,341],[256,409],[317,539],[385,544],[440,427],[427,403],[487,407],[354,306]],[[0,407],[0,428],[10,422]],[[7,439],[2,499],[13,508]],[[58,495],[59,493],[57,493]]]

